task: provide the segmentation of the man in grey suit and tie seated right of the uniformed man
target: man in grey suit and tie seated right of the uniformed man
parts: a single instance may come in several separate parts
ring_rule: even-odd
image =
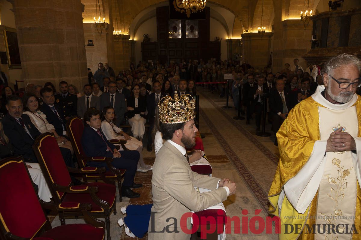
[[[89,84],[84,85],[84,96],[78,98],[77,114],[80,118],[84,117],[84,113],[91,107],[100,110],[100,98],[92,95],[92,87]]]

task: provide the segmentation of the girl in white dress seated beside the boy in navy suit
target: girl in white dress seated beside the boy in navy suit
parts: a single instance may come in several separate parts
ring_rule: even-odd
[[[143,143],[134,137],[129,136],[121,128],[118,128],[114,122],[115,114],[114,108],[108,106],[103,109],[101,113],[101,130],[104,132],[104,135],[107,140],[109,139],[119,139],[119,140],[126,140],[127,143],[125,147],[129,150],[136,150],[139,152],[139,162],[138,162],[138,172],[148,172],[153,170],[152,165],[146,165],[143,160]],[[123,136],[119,135],[122,134]]]

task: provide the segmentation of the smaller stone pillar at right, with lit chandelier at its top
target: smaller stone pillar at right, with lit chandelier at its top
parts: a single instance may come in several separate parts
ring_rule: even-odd
[[[264,68],[268,65],[271,54],[271,37],[273,33],[265,32],[260,34],[258,32],[243,33],[243,60],[251,64],[252,67]]]

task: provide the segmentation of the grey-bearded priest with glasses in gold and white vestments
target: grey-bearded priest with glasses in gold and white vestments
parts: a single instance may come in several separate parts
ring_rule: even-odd
[[[360,60],[325,63],[324,86],[301,101],[277,132],[280,160],[268,199],[279,239],[361,239]]]

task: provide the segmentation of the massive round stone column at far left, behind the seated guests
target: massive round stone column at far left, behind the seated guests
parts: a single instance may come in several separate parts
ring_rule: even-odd
[[[23,80],[44,85],[88,82],[80,0],[14,1]]]

